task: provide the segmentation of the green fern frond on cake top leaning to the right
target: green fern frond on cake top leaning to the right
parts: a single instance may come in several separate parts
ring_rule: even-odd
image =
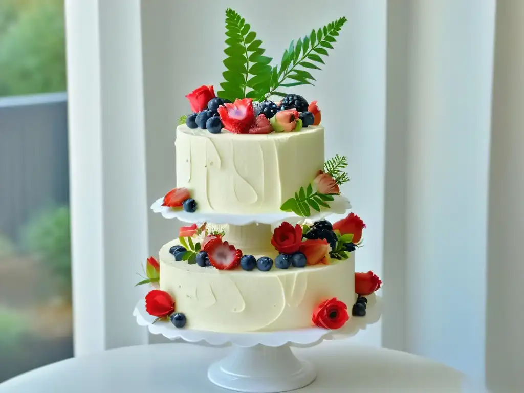
[[[311,30],[309,36],[299,38],[296,45],[291,41],[289,48],[284,51],[280,68],[274,67],[271,71],[271,84],[268,91],[260,89],[259,100],[268,99],[271,95],[285,96],[279,92],[280,87],[290,88],[304,84],[313,85],[313,75],[308,70],[321,70],[317,64],[325,64],[322,56],[329,56],[328,49],[334,49],[333,42],[346,23],[346,17],[336,19],[328,25]],[[291,80],[288,83],[284,83]]]

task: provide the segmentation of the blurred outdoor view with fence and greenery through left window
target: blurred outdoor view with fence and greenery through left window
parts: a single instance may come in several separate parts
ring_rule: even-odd
[[[0,0],[0,382],[73,355],[63,0]]]

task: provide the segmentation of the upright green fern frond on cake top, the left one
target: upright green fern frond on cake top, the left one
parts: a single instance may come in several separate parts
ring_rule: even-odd
[[[273,59],[263,56],[262,41],[255,39],[256,32],[245,23],[233,9],[226,9],[227,58],[223,61],[227,71],[222,75],[223,90],[217,95],[234,101],[236,98],[256,98],[264,95],[271,87],[271,66]],[[250,91],[247,91],[250,89]]]

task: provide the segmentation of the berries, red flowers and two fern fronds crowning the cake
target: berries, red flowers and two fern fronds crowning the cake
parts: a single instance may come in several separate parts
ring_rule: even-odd
[[[264,56],[262,41],[255,31],[233,9],[227,8],[225,19],[226,59],[222,73],[222,90],[202,85],[185,97],[189,100],[189,115],[181,116],[179,124],[189,128],[207,129],[218,134],[227,130],[237,134],[269,134],[300,131],[320,124],[321,113],[316,101],[285,93],[288,88],[313,85],[312,70],[321,70],[323,57],[347,19],[341,17],[311,33],[291,41],[280,63]],[[270,101],[274,96],[280,101]]]

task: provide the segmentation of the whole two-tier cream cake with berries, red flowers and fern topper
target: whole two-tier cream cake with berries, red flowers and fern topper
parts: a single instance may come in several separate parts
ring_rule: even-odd
[[[373,272],[355,274],[365,224],[354,213],[323,218],[343,199],[346,158],[325,160],[317,102],[280,92],[310,83],[307,69],[323,63],[345,20],[292,42],[271,66],[250,26],[226,11],[223,90],[186,96],[193,113],[176,131],[177,185],[156,206],[206,222],[183,226],[148,259],[141,283],[156,287],[146,296],[151,315],[215,332],[339,329],[365,315],[381,284]],[[271,213],[287,218],[257,220]],[[213,223],[218,215],[250,220]]]

